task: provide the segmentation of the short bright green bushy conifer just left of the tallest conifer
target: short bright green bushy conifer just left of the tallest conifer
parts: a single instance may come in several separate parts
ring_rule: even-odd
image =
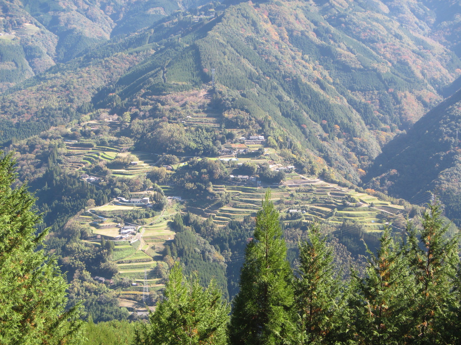
[[[165,300],[157,304],[150,324],[136,334],[136,342],[146,345],[225,345],[230,307],[212,281],[208,288],[198,277],[184,280],[177,262],[165,285]]]

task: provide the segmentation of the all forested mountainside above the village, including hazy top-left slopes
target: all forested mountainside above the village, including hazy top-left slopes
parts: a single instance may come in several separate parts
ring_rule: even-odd
[[[361,184],[381,148],[460,83],[458,9],[430,0],[4,0],[20,19],[2,22],[5,33],[17,29],[0,38],[0,141],[101,112],[129,111],[153,132],[152,119],[191,111],[175,100],[181,92],[202,90],[221,127],[234,110],[261,134],[273,124],[275,145],[296,143],[307,171]],[[132,123],[124,135],[146,147],[139,132]]]

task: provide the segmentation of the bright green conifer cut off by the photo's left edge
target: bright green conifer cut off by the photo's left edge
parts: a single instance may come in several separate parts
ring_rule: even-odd
[[[0,152],[0,155],[3,155]],[[12,153],[0,159],[0,344],[73,344],[80,341],[79,307],[65,311],[67,283],[56,259],[37,250],[41,215],[16,179]]]

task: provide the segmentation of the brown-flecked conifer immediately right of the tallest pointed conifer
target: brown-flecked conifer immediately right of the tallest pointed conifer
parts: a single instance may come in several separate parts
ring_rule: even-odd
[[[299,313],[296,338],[300,344],[332,344],[341,335],[344,284],[333,264],[332,248],[321,237],[319,224],[299,242],[295,299]]]

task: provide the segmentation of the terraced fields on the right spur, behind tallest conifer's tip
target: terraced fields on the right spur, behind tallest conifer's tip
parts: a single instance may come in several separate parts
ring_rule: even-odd
[[[374,196],[358,193],[355,190],[328,184],[324,181],[299,180],[293,174],[293,179],[287,180],[286,185],[272,186],[272,201],[281,212],[282,219],[292,220],[325,220],[332,223],[342,223],[344,220],[361,222],[372,229],[378,229],[389,213],[401,213],[403,208],[391,205],[388,201],[380,201]],[[265,188],[248,186],[216,185],[216,190],[231,192],[230,205],[213,210],[205,210],[202,216],[213,215],[214,222],[224,226],[231,219],[242,219],[246,215],[254,215],[261,205],[266,192]],[[349,201],[346,201],[348,199]],[[373,203],[374,207],[370,207]],[[194,208],[189,207],[191,212]],[[197,209],[198,210],[198,209]],[[289,212],[296,210],[297,212]],[[383,212],[385,211],[385,212]],[[387,212],[387,213],[386,213]],[[291,215],[292,213],[297,213]],[[199,214],[197,212],[197,214]]]

